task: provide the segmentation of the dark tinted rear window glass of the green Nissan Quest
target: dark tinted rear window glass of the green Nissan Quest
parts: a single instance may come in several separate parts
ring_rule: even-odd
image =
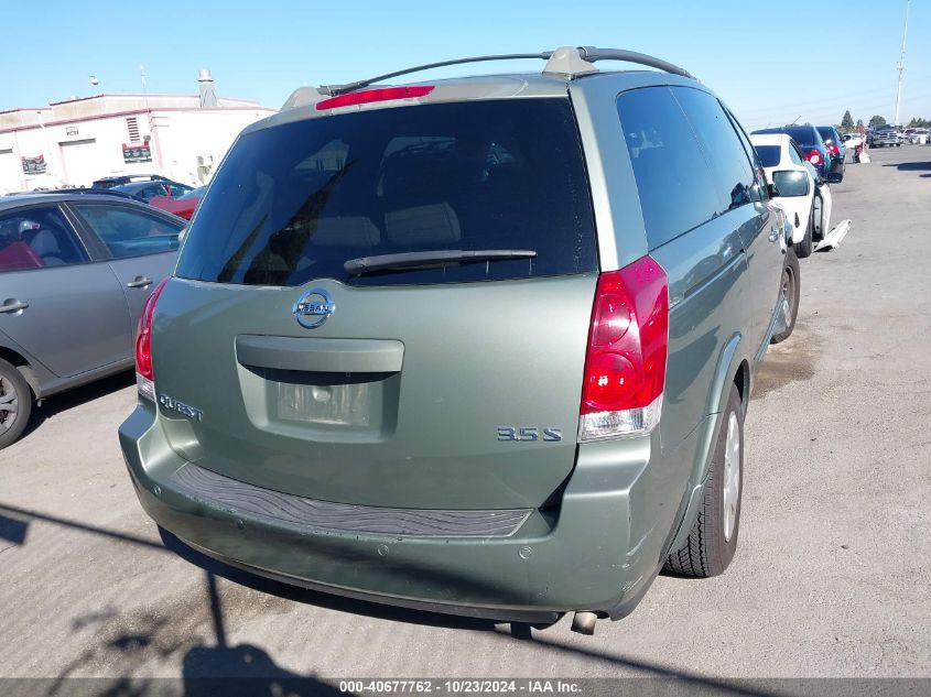
[[[364,257],[532,250],[532,259],[351,275]],[[209,282],[293,286],[535,277],[597,269],[569,100],[362,111],[241,137],[210,184],[177,266]]]

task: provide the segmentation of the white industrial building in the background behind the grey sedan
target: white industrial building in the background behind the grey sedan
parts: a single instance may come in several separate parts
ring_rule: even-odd
[[[275,110],[217,99],[206,72],[201,81],[199,96],[98,95],[0,111],[0,195],[115,174],[207,183],[239,131]]]

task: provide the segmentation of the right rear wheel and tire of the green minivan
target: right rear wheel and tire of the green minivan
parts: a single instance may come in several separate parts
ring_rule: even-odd
[[[696,578],[724,573],[737,551],[743,490],[744,410],[737,385],[732,384],[727,409],[717,429],[699,518],[685,543],[667,557],[667,569]]]

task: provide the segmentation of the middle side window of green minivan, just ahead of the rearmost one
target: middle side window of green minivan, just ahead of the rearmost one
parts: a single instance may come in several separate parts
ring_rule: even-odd
[[[723,198],[718,213],[751,203],[756,184],[754,171],[734,126],[717,99],[691,87],[673,87],[672,91],[692,122],[714,170],[715,184]]]

